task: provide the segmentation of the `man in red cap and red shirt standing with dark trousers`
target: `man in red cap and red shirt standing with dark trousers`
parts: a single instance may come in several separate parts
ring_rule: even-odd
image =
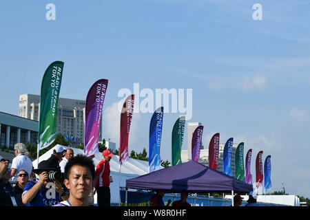
[[[110,160],[114,154],[105,150],[102,155],[103,159],[96,166],[94,186],[97,192],[98,206],[110,206]]]

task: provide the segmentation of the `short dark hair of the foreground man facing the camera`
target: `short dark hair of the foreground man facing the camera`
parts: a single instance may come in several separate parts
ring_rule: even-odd
[[[68,160],[68,163],[65,165],[65,179],[69,179],[70,170],[72,166],[85,166],[90,169],[90,173],[92,173],[92,179],[94,179],[95,176],[95,167],[94,162],[90,157],[86,157],[84,155],[78,154],[75,157],[71,157]]]

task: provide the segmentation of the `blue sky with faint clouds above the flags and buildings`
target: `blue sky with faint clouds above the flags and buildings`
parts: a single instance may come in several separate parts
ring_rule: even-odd
[[[48,21],[45,6],[56,5]],[[254,3],[262,21],[254,21]],[[50,63],[64,61],[60,96],[85,100],[109,79],[103,136],[118,144],[118,91],[192,89],[203,144],[220,132],[245,153],[271,155],[272,190],[310,197],[310,1],[1,1],[0,111],[18,115],[20,94],[39,94]],[[151,113],[135,113],[130,151],[148,150]],[[171,157],[178,113],[163,118],[162,159]],[[185,133],[187,130],[185,130]],[[187,139],[184,140],[184,148]]]

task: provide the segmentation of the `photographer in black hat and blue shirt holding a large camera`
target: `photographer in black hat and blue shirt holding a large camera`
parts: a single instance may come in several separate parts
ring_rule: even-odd
[[[39,181],[31,181],[25,186],[22,195],[25,206],[54,206],[61,200],[68,199],[59,181],[61,171],[54,168],[49,160],[40,162],[38,168],[33,171],[39,175]],[[48,188],[47,185],[52,185],[52,188]]]

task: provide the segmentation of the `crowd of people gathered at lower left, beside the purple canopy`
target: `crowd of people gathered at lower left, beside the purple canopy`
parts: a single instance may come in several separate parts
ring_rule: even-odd
[[[11,166],[8,159],[0,162],[0,206],[94,206],[94,193],[98,206],[110,206],[109,150],[95,168],[92,157],[57,145],[35,169],[24,144],[14,150]]]

